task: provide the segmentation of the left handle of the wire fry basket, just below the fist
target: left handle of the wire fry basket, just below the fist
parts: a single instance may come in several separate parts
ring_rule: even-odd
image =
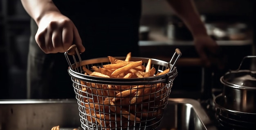
[[[81,56],[80,56],[75,44],[71,45],[70,48],[68,48],[67,51],[64,54],[65,54],[67,63],[71,67],[72,70],[74,70],[74,68],[72,67],[72,64],[70,62],[70,59],[69,59],[68,55],[73,56],[74,63],[77,63],[75,55],[78,56],[79,62],[82,61]]]

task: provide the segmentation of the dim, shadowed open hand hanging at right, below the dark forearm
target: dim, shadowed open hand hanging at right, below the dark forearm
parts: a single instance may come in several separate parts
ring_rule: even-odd
[[[195,49],[206,67],[216,65],[219,69],[224,68],[223,56],[216,41],[208,35],[194,37]]]

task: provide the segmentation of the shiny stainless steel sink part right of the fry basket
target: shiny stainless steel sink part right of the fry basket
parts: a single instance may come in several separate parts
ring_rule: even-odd
[[[197,100],[169,98],[158,130],[217,130]]]

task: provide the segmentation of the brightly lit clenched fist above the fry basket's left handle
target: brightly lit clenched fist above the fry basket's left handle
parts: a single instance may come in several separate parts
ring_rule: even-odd
[[[85,51],[74,23],[59,12],[47,13],[40,19],[35,39],[47,54],[65,52],[72,44],[79,52]]]

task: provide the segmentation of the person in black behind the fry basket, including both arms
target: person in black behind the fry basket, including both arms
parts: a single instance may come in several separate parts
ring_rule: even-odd
[[[31,16],[27,98],[74,98],[63,52],[76,44],[82,60],[139,56],[141,0],[21,0]],[[218,45],[207,35],[193,0],[168,0],[193,35],[206,66]],[[157,6],[157,5],[156,5]]]

